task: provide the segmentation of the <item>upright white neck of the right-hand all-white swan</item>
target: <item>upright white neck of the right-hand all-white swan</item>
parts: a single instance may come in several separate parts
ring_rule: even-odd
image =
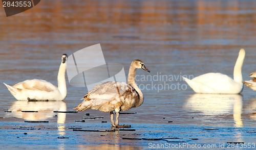
[[[242,66],[244,62],[244,57],[245,57],[245,51],[244,49],[240,49],[238,59],[236,62],[236,65],[234,65],[234,81],[242,83],[243,77],[242,77]]]

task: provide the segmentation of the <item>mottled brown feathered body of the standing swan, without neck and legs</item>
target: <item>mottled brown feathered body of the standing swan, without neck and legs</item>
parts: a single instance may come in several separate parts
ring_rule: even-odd
[[[75,109],[77,111],[87,109],[98,109],[102,112],[114,111],[120,108],[120,111],[129,110],[138,107],[138,92],[129,84],[124,82],[108,81],[95,86],[84,97],[84,101]]]

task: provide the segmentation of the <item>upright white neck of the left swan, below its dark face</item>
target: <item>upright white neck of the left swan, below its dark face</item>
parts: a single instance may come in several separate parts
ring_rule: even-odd
[[[63,98],[67,96],[65,72],[66,72],[66,63],[61,62],[59,66],[59,72],[58,72],[58,89],[61,95],[63,96]]]

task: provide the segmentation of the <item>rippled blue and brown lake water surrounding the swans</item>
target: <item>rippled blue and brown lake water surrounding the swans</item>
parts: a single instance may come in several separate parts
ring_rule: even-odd
[[[241,95],[195,94],[180,78],[207,72],[232,78],[238,52],[244,48],[243,79],[249,80],[249,73],[255,71],[255,11],[254,1],[41,1],[11,17],[0,9],[1,82],[14,85],[43,79],[57,85],[61,55],[97,43],[105,61],[121,63],[126,75],[134,59],[142,60],[151,71],[137,70],[145,101],[128,111],[137,114],[123,114],[119,119],[136,132],[70,129],[110,130],[111,124],[109,113],[97,110],[53,113],[74,111],[87,93],[86,88],[72,87],[68,81],[63,102],[17,102],[1,84],[0,128],[5,142],[0,144],[11,149],[151,149],[148,143],[166,143],[122,137],[178,137],[188,144],[218,144],[219,148],[220,143],[227,148],[227,142],[255,143],[255,133],[247,133],[256,126],[255,91],[245,86]],[[19,111],[32,109],[38,113]],[[84,113],[104,118],[75,122]],[[207,128],[219,130],[203,130]],[[61,136],[69,138],[57,139]]]

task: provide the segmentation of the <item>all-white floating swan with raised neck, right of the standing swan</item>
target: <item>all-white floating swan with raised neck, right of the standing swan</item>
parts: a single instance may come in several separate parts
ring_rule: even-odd
[[[239,94],[243,90],[242,66],[245,51],[240,49],[236,65],[234,65],[234,79],[222,73],[206,73],[192,80],[183,79],[196,93],[211,94]]]

